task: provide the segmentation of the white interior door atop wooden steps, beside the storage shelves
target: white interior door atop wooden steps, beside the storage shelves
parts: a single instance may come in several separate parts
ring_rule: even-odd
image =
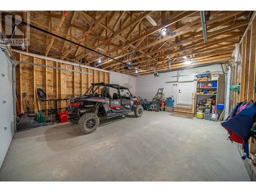
[[[194,81],[179,82],[177,104],[192,105],[193,91]]]

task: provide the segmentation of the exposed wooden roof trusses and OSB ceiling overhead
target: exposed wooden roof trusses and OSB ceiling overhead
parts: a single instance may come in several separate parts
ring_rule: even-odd
[[[250,11],[207,12],[205,43],[199,11],[30,11],[20,16],[25,20],[28,13],[27,22],[122,62],[133,55],[133,69],[34,29],[28,52],[134,76],[168,70],[168,57],[172,69],[229,60],[251,16]]]

